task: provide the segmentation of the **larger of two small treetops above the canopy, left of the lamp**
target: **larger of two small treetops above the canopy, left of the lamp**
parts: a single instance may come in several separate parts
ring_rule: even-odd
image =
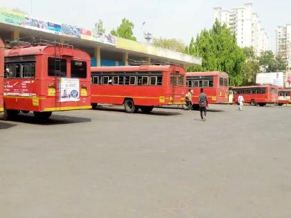
[[[134,24],[126,18],[122,19],[121,25],[117,27],[117,29],[111,30],[111,34],[116,37],[121,37],[124,39],[130,39],[136,41],[136,37],[134,37],[132,33],[132,29],[134,28]]]

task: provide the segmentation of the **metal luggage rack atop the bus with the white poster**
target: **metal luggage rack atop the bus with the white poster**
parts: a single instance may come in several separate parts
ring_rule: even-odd
[[[50,41],[46,39],[40,39],[35,37],[23,37],[16,40],[6,40],[6,44],[9,44],[11,48],[13,47],[30,47],[30,46],[63,46],[73,48],[72,45],[62,44],[57,41]]]

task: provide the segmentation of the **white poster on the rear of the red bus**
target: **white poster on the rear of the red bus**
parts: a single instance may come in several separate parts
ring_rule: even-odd
[[[80,100],[79,79],[60,78],[60,102],[78,102]]]

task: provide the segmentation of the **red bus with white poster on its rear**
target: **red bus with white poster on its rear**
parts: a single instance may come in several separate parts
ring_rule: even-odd
[[[5,51],[3,120],[19,111],[91,109],[90,56],[72,46],[25,44]]]

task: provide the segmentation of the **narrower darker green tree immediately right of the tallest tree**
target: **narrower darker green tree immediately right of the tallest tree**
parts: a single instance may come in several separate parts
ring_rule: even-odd
[[[260,71],[260,66],[253,47],[243,48],[247,60],[243,66],[243,85],[256,84],[256,74]]]

